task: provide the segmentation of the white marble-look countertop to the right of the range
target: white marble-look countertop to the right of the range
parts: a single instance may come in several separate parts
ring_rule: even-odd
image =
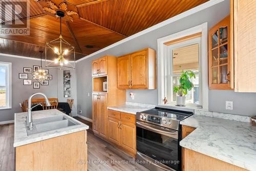
[[[249,122],[193,115],[180,124],[197,127],[180,141],[182,147],[256,170],[256,127]]]

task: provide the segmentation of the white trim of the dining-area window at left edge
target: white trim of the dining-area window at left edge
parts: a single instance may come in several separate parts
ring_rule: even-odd
[[[12,109],[12,63],[11,62],[0,62],[8,66],[8,73],[6,78],[6,94],[7,94],[7,105],[0,107],[0,110]]]

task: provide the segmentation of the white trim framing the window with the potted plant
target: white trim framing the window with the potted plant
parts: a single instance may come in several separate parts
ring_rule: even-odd
[[[208,110],[208,28],[207,28],[207,22],[203,23],[199,26],[195,26],[193,28],[189,28],[183,31],[180,31],[178,33],[174,33],[162,38],[157,39],[157,45],[158,45],[158,105],[159,106],[175,106],[175,104],[163,104],[164,99],[164,85],[167,83],[164,81],[164,76],[166,71],[164,71],[164,63],[165,61],[164,56],[167,54],[167,46],[164,45],[167,41],[172,41],[178,38],[182,38],[185,36],[189,36],[196,33],[202,33],[201,36],[201,58],[199,61],[200,67],[201,67],[201,104],[202,108],[204,110]],[[195,104],[186,105],[185,107],[182,107],[185,109],[196,109]]]

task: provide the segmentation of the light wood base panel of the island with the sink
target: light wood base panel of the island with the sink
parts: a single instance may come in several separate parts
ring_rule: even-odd
[[[87,170],[87,131],[16,147],[16,171]]]

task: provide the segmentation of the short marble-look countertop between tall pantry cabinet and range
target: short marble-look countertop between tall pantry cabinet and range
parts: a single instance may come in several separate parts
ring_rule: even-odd
[[[108,109],[125,112],[136,115],[137,112],[146,111],[149,109],[155,108],[155,105],[152,104],[143,104],[143,103],[133,103],[133,102],[126,102],[125,105],[119,106],[111,106]]]

